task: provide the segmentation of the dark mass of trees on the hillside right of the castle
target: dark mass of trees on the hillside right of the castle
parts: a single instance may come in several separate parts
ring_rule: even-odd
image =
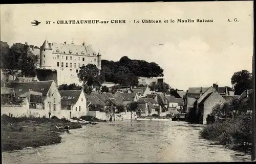
[[[137,86],[138,76],[160,77],[163,69],[156,63],[148,63],[143,60],[131,60],[124,56],[119,61],[101,61],[101,72],[105,80],[120,84],[121,86]]]

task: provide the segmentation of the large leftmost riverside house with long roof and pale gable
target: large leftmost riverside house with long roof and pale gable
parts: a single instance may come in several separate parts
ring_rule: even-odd
[[[53,80],[22,83],[9,82],[6,83],[6,87],[13,88],[16,96],[29,97],[30,106],[33,106],[33,108],[35,108],[34,104],[36,104],[36,108],[40,109],[40,97],[42,96],[41,108],[44,113],[41,113],[40,116],[47,117],[51,112],[60,111],[60,93]]]

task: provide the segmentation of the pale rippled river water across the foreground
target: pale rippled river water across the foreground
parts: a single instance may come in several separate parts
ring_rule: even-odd
[[[202,125],[175,121],[99,123],[63,134],[62,143],[3,152],[3,163],[217,162],[250,156],[199,139]]]

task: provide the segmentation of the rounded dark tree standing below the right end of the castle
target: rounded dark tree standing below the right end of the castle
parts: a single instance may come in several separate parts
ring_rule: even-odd
[[[77,76],[85,88],[86,86],[89,87],[89,94],[92,92],[93,87],[100,87],[104,81],[99,73],[99,69],[94,64],[80,67]]]

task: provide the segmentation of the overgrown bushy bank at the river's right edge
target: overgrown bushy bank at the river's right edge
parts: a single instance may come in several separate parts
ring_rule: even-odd
[[[200,136],[215,144],[229,145],[233,150],[248,152],[252,141],[251,119],[250,114],[245,114],[233,120],[208,124],[200,131]]]

